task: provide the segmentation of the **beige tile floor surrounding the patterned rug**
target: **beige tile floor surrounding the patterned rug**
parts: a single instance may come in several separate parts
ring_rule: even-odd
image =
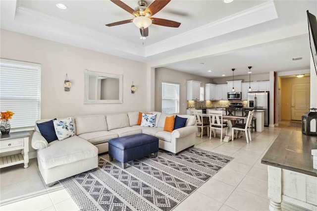
[[[280,130],[299,130],[288,127],[288,121],[279,122],[279,127],[264,128],[252,133],[252,142],[245,137],[229,143],[219,137],[209,140],[207,135],[196,138],[195,147],[228,155],[234,159],[217,172],[210,180],[180,203],[174,211],[267,211],[267,168],[261,163],[274,138]],[[9,167],[7,167],[9,168]],[[56,185],[55,185],[56,186]],[[56,186],[45,186],[32,159],[27,169],[12,166],[0,172],[0,199],[5,202],[18,192],[26,193],[30,188],[39,192],[35,197],[0,205],[1,211],[77,211],[79,208],[67,191]]]

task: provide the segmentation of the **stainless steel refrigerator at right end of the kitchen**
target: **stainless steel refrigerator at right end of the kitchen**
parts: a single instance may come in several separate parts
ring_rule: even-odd
[[[264,110],[264,126],[268,127],[269,92],[249,92],[248,107]]]

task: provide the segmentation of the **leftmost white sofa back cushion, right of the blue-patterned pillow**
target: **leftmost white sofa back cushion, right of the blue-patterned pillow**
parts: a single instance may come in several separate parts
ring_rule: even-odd
[[[106,115],[75,116],[76,135],[96,131],[107,131]]]

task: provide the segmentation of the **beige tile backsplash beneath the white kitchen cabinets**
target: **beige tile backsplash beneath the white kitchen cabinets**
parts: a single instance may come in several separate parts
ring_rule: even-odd
[[[192,107],[228,107],[230,103],[242,103],[243,107],[248,106],[248,101],[230,100],[230,101],[187,101],[187,108]]]

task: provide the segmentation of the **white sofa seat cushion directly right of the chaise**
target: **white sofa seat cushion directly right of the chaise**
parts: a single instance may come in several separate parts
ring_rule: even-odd
[[[109,131],[96,131],[80,134],[79,137],[89,141],[93,145],[96,145],[106,143],[108,140],[118,138],[119,136],[118,134]]]

